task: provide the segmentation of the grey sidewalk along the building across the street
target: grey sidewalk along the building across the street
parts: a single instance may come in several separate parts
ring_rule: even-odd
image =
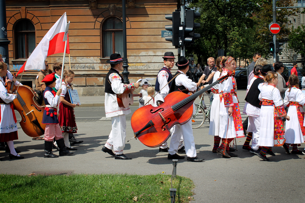
[[[246,97],[246,90],[237,90],[239,101],[244,101]],[[81,105],[79,107],[101,107],[105,106],[105,96],[85,96],[79,97],[81,101]],[[198,101],[197,101],[198,100]],[[197,98],[197,103],[199,102],[200,98]],[[208,97],[204,94],[204,100],[208,104]],[[130,106],[138,106],[139,105],[139,97],[134,97],[134,103]],[[78,106],[76,106],[78,107]]]

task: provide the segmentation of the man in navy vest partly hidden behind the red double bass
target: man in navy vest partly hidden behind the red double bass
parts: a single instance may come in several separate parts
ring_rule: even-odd
[[[170,91],[170,86],[172,84],[173,75],[171,74],[170,70],[174,67],[175,64],[175,56],[173,52],[165,52],[163,58],[164,66],[160,69],[157,78],[156,78],[156,85],[155,91],[156,96],[154,97],[155,103],[154,105],[157,106],[157,101],[164,102],[164,98]],[[160,92],[159,92],[160,91]],[[170,129],[170,134],[174,133],[175,127]],[[181,140],[178,147],[179,153],[184,153],[185,148],[183,144],[182,135],[180,135]],[[159,152],[168,152],[169,148],[167,142],[164,142],[159,147]]]

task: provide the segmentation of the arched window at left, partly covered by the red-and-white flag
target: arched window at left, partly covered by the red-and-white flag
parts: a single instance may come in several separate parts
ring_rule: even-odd
[[[27,59],[35,49],[35,26],[29,20],[20,20],[14,29],[15,58]]]

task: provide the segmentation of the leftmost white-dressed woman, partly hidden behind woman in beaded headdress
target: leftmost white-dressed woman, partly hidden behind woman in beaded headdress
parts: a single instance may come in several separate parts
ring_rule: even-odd
[[[213,83],[220,78],[220,74],[222,72],[222,59],[224,59],[224,56],[219,56],[216,59],[216,66],[217,71],[213,76]],[[219,99],[219,84],[214,85],[211,88],[211,91],[213,92],[213,101],[211,104],[211,116],[210,116],[210,129],[209,129],[209,135],[214,136],[214,147],[212,149],[213,153],[217,152],[217,148],[219,147],[221,137],[219,137],[219,109],[220,109],[220,99]],[[220,150],[220,149],[219,149]]]

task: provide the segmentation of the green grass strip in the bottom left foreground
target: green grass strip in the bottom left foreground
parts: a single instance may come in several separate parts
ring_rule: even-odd
[[[170,202],[170,175],[20,176],[0,174],[0,202]],[[177,176],[176,202],[189,202],[191,179]],[[137,201],[133,200],[137,197]]]

